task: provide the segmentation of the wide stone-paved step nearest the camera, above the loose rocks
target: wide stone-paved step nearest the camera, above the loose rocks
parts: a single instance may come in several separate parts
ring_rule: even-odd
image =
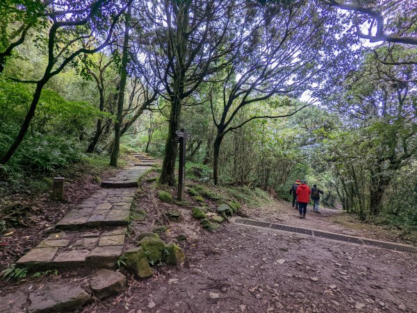
[[[112,268],[122,255],[126,227],[56,232],[17,260],[30,271]]]

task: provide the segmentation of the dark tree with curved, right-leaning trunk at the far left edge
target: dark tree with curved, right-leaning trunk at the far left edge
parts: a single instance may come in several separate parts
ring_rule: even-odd
[[[49,32],[45,39],[48,64],[42,78],[37,81],[21,81],[35,84],[35,92],[19,133],[5,155],[1,156],[0,164],[6,164],[10,160],[24,139],[44,85],[67,65],[76,62],[76,58],[82,53],[96,53],[107,46],[126,5],[120,7],[113,1],[105,0],[63,1],[50,3],[46,9],[45,15],[49,20]],[[100,36],[104,37],[104,40],[99,41],[97,38]],[[81,47],[81,41],[87,38],[88,47]]]

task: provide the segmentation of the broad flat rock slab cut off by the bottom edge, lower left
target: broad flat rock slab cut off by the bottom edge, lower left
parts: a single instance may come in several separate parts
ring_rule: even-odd
[[[74,312],[90,301],[90,295],[79,286],[47,283],[31,292],[29,300],[28,312]]]

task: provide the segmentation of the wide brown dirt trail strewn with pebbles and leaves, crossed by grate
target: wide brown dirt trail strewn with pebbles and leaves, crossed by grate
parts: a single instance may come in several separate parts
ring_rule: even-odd
[[[250,212],[363,235],[333,223],[334,214],[308,212],[300,220],[284,202]],[[236,224],[183,248],[182,269],[156,267],[144,281],[130,276],[124,294],[85,312],[417,312],[416,255]]]

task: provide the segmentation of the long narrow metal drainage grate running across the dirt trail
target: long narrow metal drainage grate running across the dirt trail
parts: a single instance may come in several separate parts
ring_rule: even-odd
[[[393,244],[391,242],[379,242],[377,240],[339,235],[339,234],[334,234],[333,232],[322,232],[319,230],[311,230],[307,228],[299,228],[299,227],[288,226],[288,225],[283,225],[283,224],[268,223],[265,221],[256,221],[254,219],[242,219],[239,217],[234,220],[234,223],[249,225],[249,226],[257,226],[257,227],[262,227],[262,228],[272,228],[276,230],[283,230],[286,232],[297,232],[303,235],[310,235],[310,236],[315,236],[319,238],[332,239],[332,240],[337,240],[339,242],[349,242],[351,244],[376,246],[378,248],[385,248],[385,249],[389,249],[393,251],[417,253],[417,247],[414,247],[414,246],[406,246],[404,244]]]

